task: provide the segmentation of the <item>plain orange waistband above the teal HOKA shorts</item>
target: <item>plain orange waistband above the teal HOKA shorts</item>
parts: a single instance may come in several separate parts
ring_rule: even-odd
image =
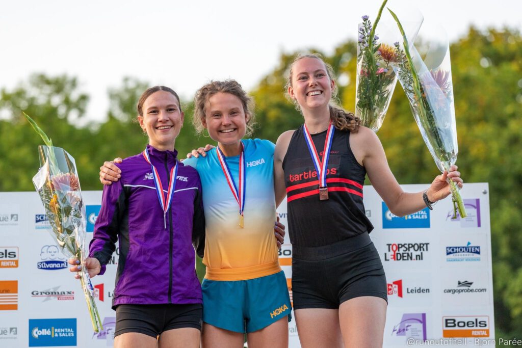
[[[272,275],[280,271],[281,266],[279,266],[279,260],[270,263],[264,263],[263,265],[255,265],[242,268],[207,267],[205,279],[220,281],[248,280],[259,277],[265,277],[266,275]]]

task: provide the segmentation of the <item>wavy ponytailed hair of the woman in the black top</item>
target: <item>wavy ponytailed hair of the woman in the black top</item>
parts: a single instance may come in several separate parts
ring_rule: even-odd
[[[319,59],[326,68],[326,74],[328,75],[328,78],[330,80],[334,79],[334,69],[331,67],[331,65],[327,64],[323,57],[318,53],[311,53],[311,54],[298,54],[295,56],[292,64],[290,64],[290,69],[288,73],[288,80],[287,85],[285,86],[286,89],[286,96],[288,100],[290,100],[294,105],[295,109],[297,109],[299,112],[301,112],[301,107],[299,106],[298,102],[292,98],[290,98],[290,95],[288,94],[288,88],[292,87],[292,74],[293,74],[293,66],[296,62],[298,62],[300,59],[303,58],[315,58]],[[359,126],[361,125],[361,119],[357,116],[355,116],[352,112],[347,112],[342,109],[342,107],[338,106],[335,100],[337,100],[337,85],[334,86],[334,89],[331,91],[331,99],[330,103],[328,104],[328,109],[330,110],[330,119],[334,122],[334,126],[339,130],[349,130],[352,133],[355,133],[359,130]]]

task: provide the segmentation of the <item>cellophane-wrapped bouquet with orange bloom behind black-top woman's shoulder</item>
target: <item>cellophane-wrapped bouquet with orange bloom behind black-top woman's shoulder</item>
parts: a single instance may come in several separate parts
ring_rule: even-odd
[[[386,3],[387,0],[384,0],[373,25],[369,16],[362,17],[357,43],[355,116],[361,118],[363,126],[375,132],[384,122],[397,84],[397,76],[392,68],[392,64],[397,62],[397,52],[393,43],[400,35],[390,28],[391,23],[386,17],[381,21],[379,35],[376,34],[377,24],[381,20]],[[423,18],[418,13],[410,14],[409,18],[408,37],[415,40]]]

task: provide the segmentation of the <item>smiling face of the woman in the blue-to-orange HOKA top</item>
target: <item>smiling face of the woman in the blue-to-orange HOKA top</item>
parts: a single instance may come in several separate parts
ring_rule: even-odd
[[[239,145],[246,133],[245,115],[241,99],[234,94],[218,92],[205,103],[205,118],[201,121],[210,138],[222,145]]]

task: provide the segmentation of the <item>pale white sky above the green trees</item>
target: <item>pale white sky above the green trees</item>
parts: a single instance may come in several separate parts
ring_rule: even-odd
[[[90,95],[84,122],[103,122],[108,89],[125,76],[166,85],[182,100],[212,79],[234,78],[246,90],[281,53],[316,47],[326,54],[357,38],[362,15],[374,19],[380,0],[9,1],[0,13],[0,88],[32,73],[76,76]],[[522,30],[515,0],[389,0],[416,6],[425,23],[439,23],[450,41],[470,25]],[[422,33],[422,29],[421,29]],[[354,83],[354,82],[353,82]]]

